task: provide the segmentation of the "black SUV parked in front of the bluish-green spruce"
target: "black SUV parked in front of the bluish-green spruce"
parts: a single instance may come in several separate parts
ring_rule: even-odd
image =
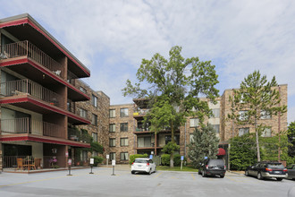
[[[226,167],[223,159],[205,159],[198,168],[198,175],[206,176],[225,176]]]

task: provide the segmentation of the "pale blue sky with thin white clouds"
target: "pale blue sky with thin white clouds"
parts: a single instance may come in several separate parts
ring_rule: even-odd
[[[29,13],[85,64],[84,79],[111,104],[132,103],[122,89],[136,81],[141,60],[168,57],[211,60],[216,86],[239,88],[259,70],[288,84],[288,123],[295,121],[295,1],[293,0],[0,0],[0,19]]]

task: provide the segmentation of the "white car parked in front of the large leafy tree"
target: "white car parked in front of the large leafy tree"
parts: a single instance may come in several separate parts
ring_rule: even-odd
[[[135,158],[131,165],[131,174],[136,172],[146,172],[150,175],[156,172],[156,164],[150,158]]]

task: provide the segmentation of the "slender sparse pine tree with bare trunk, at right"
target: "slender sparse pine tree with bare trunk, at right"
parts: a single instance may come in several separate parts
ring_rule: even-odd
[[[267,81],[266,75],[261,76],[259,71],[255,71],[240,83],[239,90],[233,90],[233,97],[230,97],[232,113],[229,118],[237,124],[249,124],[255,128],[257,161],[260,161],[259,133],[268,126],[263,122],[258,124],[258,120],[264,116],[282,116],[287,111],[286,106],[279,105],[280,92],[275,86],[278,86],[275,77]]]

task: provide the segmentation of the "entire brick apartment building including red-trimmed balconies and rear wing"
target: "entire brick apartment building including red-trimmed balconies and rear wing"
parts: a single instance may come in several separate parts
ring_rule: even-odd
[[[89,141],[77,138],[75,127],[85,129],[104,146],[103,157],[109,155],[109,161],[117,163],[128,163],[131,154],[160,155],[171,141],[169,131],[155,134],[142,124],[148,110],[144,99],[110,105],[104,92],[80,81],[90,75],[86,66],[29,14],[0,20],[0,38],[0,169],[15,167],[16,158],[22,156],[41,158],[43,167],[50,167],[50,159],[56,157],[58,166],[66,167],[77,148],[90,146]],[[281,92],[280,105],[287,106],[287,85],[275,89]],[[205,120],[214,126],[225,150],[232,136],[255,132],[226,118],[232,92],[224,90],[215,105],[208,101],[214,116]],[[270,125],[265,137],[287,129],[287,114],[265,116],[262,121]],[[189,117],[176,131],[181,155],[188,156],[187,145],[196,126],[198,119]],[[83,151],[80,158],[87,162],[96,155]]]

